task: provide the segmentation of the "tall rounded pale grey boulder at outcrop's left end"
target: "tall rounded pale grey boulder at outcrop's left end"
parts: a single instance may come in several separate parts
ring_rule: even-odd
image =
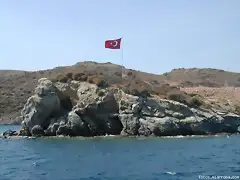
[[[35,125],[47,129],[50,124],[55,123],[63,114],[71,110],[71,102],[68,97],[59,91],[48,79],[39,79],[39,85],[35,94],[31,96],[21,112],[24,128],[31,131]]]

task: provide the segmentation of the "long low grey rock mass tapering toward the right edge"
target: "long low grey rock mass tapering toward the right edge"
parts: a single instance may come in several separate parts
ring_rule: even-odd
[[[173,136],[236,133],[240,117],[219,115],[206,109],[159,98],[140,98],[123,94],[119,103],[122,135]]]

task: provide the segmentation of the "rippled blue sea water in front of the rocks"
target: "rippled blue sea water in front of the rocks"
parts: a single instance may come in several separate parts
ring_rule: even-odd
[[[0,139],[0,180],[168,179],[240,179],[240,136]]]

